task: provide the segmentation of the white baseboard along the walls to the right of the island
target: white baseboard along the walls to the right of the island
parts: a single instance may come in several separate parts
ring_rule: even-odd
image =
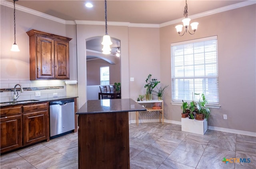
[[[150,122],[159,122],[159,119],[141,119],[141,120],[139,120],[139,123],[150,123]],[[130,120],[129,123],[136,123],[136,120]],[[164,119],[164,123],[172,123],[172,124],[181,125],[181,121],[166,120],[166,119]],[[214,126],[209,126],[209,125],[208,125],[208,129],[256,137],[256,133],[250,132],[250,131],[226,129],[226,128],[222,128],[222,127],[214,127]]]

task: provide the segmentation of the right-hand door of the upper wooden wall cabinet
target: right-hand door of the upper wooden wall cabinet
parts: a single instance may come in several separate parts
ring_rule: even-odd
[[[54,41],[55,47],[55,78],[69,79],[69,43]]]

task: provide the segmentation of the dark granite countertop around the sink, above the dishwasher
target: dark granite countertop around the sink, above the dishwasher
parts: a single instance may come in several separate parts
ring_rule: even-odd
[[[10,102],[4,102],[0,103],[0,107],[9,106],[9,105],[23,105],[23,104],[29,104],[29,103],[40,103],[44,101],[58,101],[63,99],[72,99],[76,98],[76,96],[58,96],[58,97],[48,97],[48,98],[41,98],[41,99],[30,99],[30,100],[17,100],[16,102],[10,101]],[[32,101],[31,101],[32,100]]]

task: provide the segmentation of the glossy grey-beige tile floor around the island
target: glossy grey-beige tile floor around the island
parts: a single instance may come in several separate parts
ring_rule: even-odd
[[[130,124],[129,132],[130,169],[256,168],[256,137],[214,130],[197,135],[169,123]],[[226,164],[224,157],[246,161]],[[77,169],[78,135],[70,133],[2,155],[0,168]]]

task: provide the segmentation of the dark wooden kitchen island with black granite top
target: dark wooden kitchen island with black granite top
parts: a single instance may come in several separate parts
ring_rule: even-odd
[[[129,111],[146,111],[132,99],[88,100],[78,109],[78,168],[129,169]]]

